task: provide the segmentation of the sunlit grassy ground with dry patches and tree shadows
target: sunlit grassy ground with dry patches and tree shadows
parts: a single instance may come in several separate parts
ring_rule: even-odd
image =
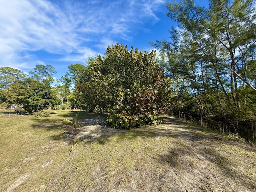
[[[74,136],[62,120],[76,113],[83,126]],[[2,111],[0,131],[0,191],[256,191],[255,147],[167,116],[158,126],[113,130],[84,112]]]

